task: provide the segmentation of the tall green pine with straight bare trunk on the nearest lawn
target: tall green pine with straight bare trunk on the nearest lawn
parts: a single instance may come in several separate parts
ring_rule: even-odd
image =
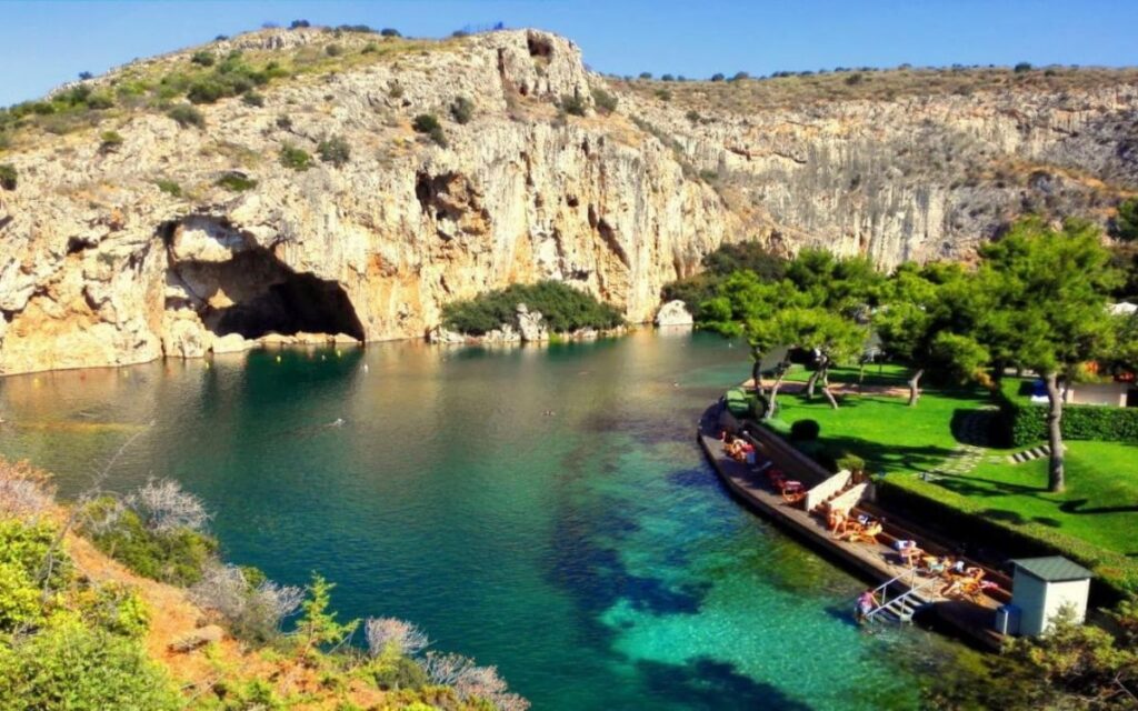
[[[978,340],[999,378],[1005,365],[1036,371],[1047,386],[1048,490],[1062,491],[1063,394],[1079,367],[1108,356],[1114,323],[1107,296],[1119,282],[1098,229],[1069,220],[1054,230],[1031,217],[980,250]]]

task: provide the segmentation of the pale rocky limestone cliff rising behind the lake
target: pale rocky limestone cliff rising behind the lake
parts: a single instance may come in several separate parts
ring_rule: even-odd
[[[648,321],[724,240],[966,257],[1037,202],[1105,218],[1138,185],[1129,80],[711,113],[708,84],[665,100],[537,31],[205,49],[267,84],[176,121],[200,63],[175,52],[85,82],[115,97],[85,123],[33,107],[0,142],[18,175],[0,191],[0,373],[271,332],[421,337],[448,300],[538,279]]]

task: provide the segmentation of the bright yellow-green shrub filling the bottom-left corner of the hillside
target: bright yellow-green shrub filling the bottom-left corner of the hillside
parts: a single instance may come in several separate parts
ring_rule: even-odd
[[[184,700],[137,639],[61,618],[0,642],[0,711],[174,711]]]

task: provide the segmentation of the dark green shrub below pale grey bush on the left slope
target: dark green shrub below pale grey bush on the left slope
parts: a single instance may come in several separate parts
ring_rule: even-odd
[[[134,511],[115,511],[113,499],[93,502],[84,512],[89,523],[83,530],[96,547],[140,576],[192,585],[217,552],[217,541],[205,534],[185,528],[151,530]]]

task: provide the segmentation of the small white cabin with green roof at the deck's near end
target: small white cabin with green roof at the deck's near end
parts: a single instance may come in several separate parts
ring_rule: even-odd
[[[1020,609],[1020,634],[1034,637],[1050,627],[1052,618],[1067,605],[1074,620],[1087,617],[1091,572],[1059,555],[1012,561],[1012,604]]]

